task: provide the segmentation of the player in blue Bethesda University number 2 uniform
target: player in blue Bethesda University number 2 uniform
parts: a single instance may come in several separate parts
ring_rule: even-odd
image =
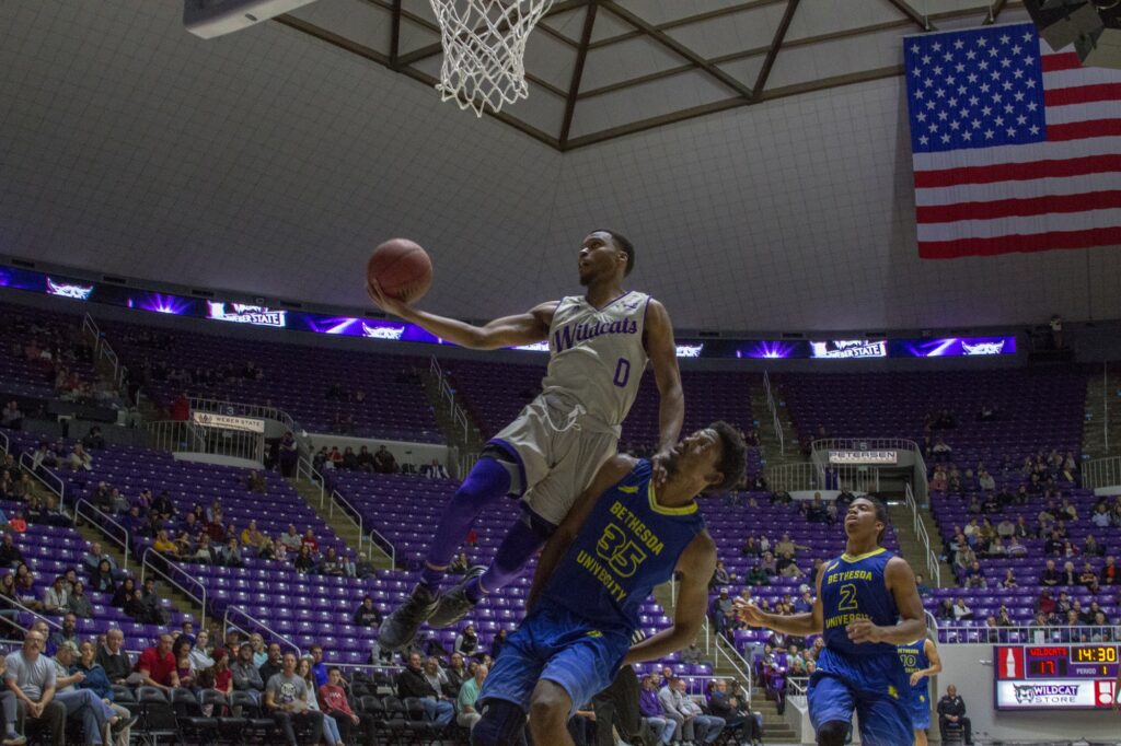
[[[926,617],[910,566],[880,547],[887,525],[883,503],[874,497],[852,502],[844,520],[845,553],[822,566],[812,610],[779,616],[735,602],[740,618],[751,626],[824,636],[807,691],[818,746],[842,746],[853,711],[864,746],[911,743],[910,686],[896,645],[923,637]]]

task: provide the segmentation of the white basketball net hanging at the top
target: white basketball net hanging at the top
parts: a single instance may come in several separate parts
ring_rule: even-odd
[[[430,0],[444,64],[436,90],[460,109],[498,112],[529,95],[526,39],[553,0]]]

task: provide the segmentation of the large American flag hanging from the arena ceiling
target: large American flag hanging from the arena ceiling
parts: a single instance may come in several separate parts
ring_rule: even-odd
[[[1121,245],[1121,71],[1031,24],[904,45],[920,257]]]

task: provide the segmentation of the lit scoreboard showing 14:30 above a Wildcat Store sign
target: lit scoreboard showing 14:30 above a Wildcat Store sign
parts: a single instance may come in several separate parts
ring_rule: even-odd
[[[1115,645],[997,645],[998,710],[1093,710],[1113,705]]]

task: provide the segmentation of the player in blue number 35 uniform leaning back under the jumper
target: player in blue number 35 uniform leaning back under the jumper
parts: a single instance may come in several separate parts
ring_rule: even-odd
[[[695,497],[743,476],[744,445],[726,422],[688,436],[655,484],[646,459],[615,455],[596,473],[541,552],[528,613],[479,694],[475,746],[567,745],[575,708],[606,688],[621,665],[664,658],[701,630],[716,548]],[[638,609],[656,585],[680,574],[674,625],[631,646]]]

